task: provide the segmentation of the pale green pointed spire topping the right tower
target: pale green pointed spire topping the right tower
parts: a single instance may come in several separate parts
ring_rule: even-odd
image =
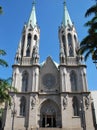
[[[63,12],[63,21],[62,21],[64,26],[72,26],[72,21],[68,12],[68,9],[66,7],[66,0],[64,0],[64,12]]]

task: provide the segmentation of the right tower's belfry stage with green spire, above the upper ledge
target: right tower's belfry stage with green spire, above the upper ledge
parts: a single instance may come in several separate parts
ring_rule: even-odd
[[[74,24],[72,23],[67,10],[66,2],[64,2],[63,20],[59,28],[59,41],[60,63],[69,64],[69,59],[71,58],[75,61],[78,58],[78,37]]]

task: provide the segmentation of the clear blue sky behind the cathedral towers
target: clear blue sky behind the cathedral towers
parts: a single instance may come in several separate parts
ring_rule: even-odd
[[[62,22],[64,0],[36,0],[37,21],[40,27],[40,62],[51,56],[59,63],[58,27]],[[0,0],[4,13],[0,16],[0,49],[7,52],[4,59],[8,68],[0,67],[0,77],[12,76],[12,64],[21,37],[23,25],[28,21],[33,0]],[[84,23],[85,11],[94,4],[93,0],[67,0],[67,8],[74,22],[79,41],[87,34]],[[86,62],[87,81],[90,90],[97,89],[97,69],[91,58]]]

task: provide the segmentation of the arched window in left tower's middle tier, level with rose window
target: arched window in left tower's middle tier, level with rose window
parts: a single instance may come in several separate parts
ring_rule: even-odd
[[[28,73],[25,71],[22,74],[22,92],[26,92],[28,88]]]

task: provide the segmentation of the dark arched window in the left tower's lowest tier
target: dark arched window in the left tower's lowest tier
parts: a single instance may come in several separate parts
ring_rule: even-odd
[[[25,116],[26,114],[26,98],[23,96],[20,99],[20,116]]]

